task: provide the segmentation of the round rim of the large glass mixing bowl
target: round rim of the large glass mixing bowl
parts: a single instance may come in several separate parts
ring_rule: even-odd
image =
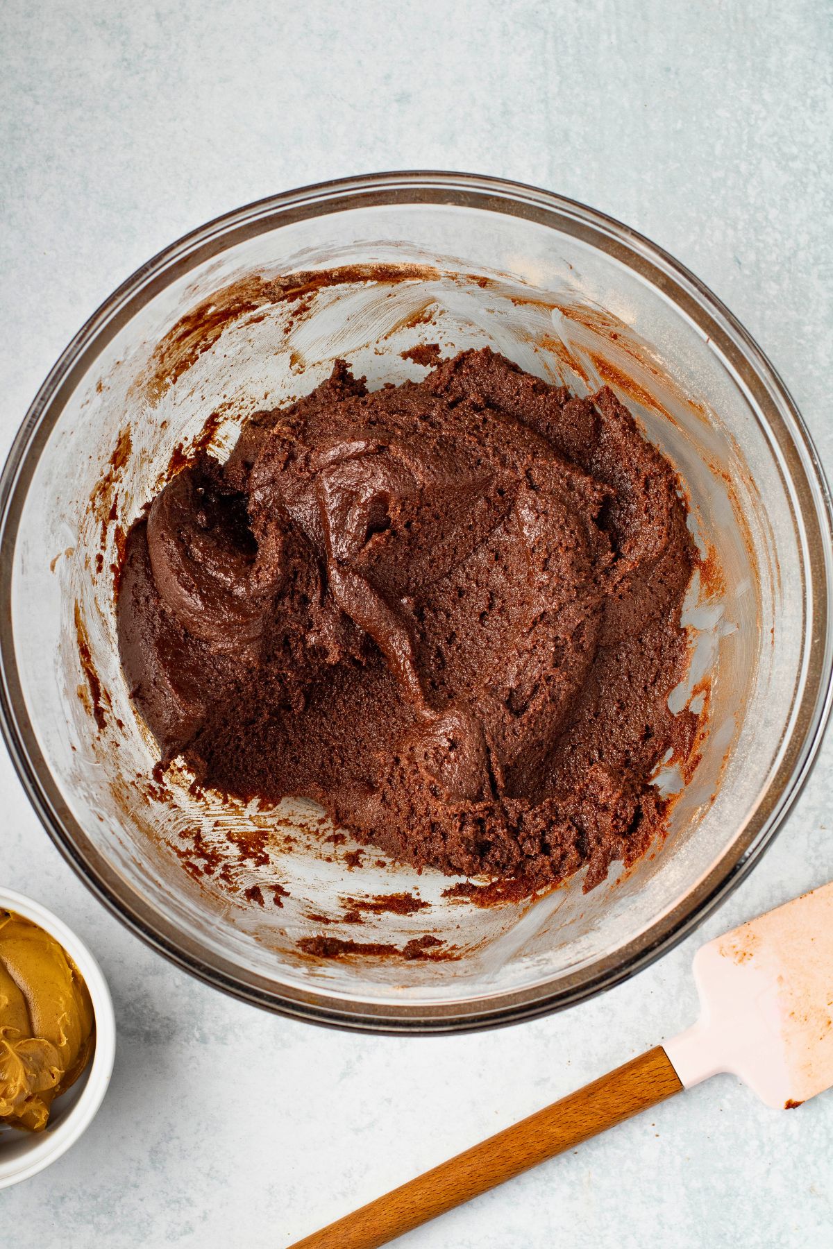
[[[120,896],[117,876],[89,844],[49,773],[26,712],[16,669],[10,612],[0,618],[0,731],[17,776],[49,836],[85,884],[142,940],[199,979],[274,1012],[363,1032],[443,1033],[497,1027],[563,1009],[647,967],[691,933],[734,889],[772,843],[813,766],[833,703],[833,503],[804,421],[781,376],[728,309],[686,266],[616,219],[576,200],[526,184],[476,174],[405,170],[357,175],[267,196],[184,235],[140,266],[77,331],[52,366],[11,445],[0,476],[0,601],[9,603],[17,525],[29,481],[60,412],[61,401],[86,372],[99,343],[109,341],[174,277],[226,246],[266,229],[343,210],[381,205],[446,205],[505,212],[557,227],[626,264],[662,290],[714,342],[766,413],[778,440],[782,471],[798,500],[794,523],[803,536],[804,618],[808,602],[817,642],[806,642],[803,683],[776,777],[709,872],[669,912],[637,938],[568,977],[557,989],[532,988],[467,1002],[420,1005],[362,1003],[323,990],[281,985],[240,969],[186,938],[137,893]],[[812,600],[808,600],[809,565]],[[122,887],[124,888],[124,887]]]

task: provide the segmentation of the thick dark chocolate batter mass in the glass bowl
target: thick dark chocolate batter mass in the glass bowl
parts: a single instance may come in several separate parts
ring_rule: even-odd
[[[360,839],[530,888],[631,862],[696,717],[668,693],[696,562],[671,465],[467,351],[368,393],[342,362],[132,528],[119,639],[162,762],[305,796]]]

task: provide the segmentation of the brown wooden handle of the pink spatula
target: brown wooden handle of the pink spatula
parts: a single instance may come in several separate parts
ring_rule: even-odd
[[[377,1249],[513,1175],[679,1093],[661,1045],[450,1158],[290,1249]]]

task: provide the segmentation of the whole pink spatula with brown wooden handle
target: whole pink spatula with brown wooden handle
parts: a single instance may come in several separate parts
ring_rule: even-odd
[[[787,1109],[833,1085],[833,883],[708,942],[694,979],[687,1032],[291,1249],[376,1249],[718,1072]]]

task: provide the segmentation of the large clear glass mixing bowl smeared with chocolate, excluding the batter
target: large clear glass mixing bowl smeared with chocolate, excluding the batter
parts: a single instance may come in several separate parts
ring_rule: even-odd
[[[706,712],[699,762],[664,844],[588,894],[576,878],[478,907],[372,848],[355,866],[351,839],[308,803],[264,809],[201,794],[181,769],[151,776],[116,647],[111,566],[126,527],[200,440],[225,453],[250,412],[311,390],[336,356],[372,386],[423,376],[402,356],[418,342],[443,355],[490,343],[582,393],[608,382],[689,496],[704,562],[684,613],[692,671],[672,699]],[[161,953],[306,1019],[450,1030],[608,988],[759,858],[829,711],[831,501],[783,383],[669,256],[532,187],[373,175],[196,230],[66,348],[11,450],[1,505],[2,727],[46,829]],[[671,773],[661,783],[678,787]],[[411,891],[428,904],[415,914],[373,901]],[[351,908],[363,924],[345,919]],[[425,932],[456,957],[396,957]],[[392,953],[305,954],[298,939],[321,933]]]

